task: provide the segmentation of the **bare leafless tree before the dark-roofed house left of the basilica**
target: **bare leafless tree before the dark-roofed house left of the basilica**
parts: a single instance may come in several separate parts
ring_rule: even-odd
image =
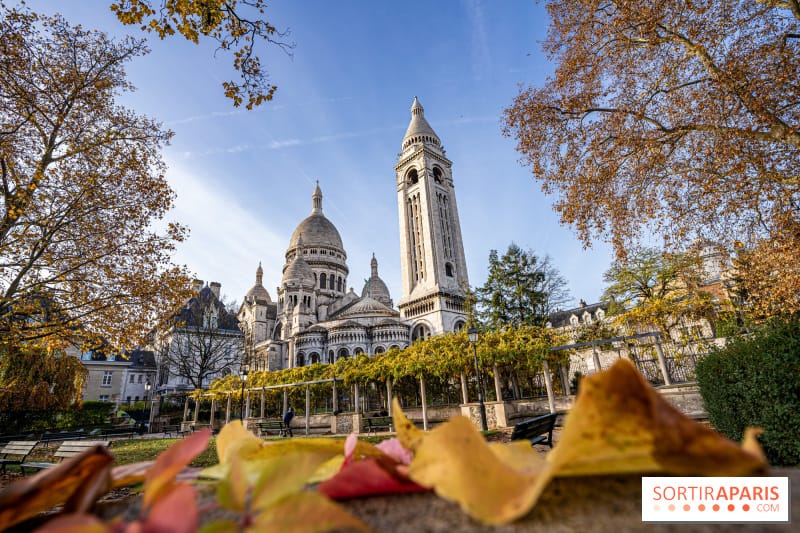
[[[209,288],[189,299],[160,334],[156,354],[158,387],[207,387],[211,380],[238,370],[244,336],[236,311]]]

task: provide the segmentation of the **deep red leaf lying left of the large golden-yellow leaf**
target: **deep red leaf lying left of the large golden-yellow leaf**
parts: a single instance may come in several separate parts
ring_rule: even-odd
[[[335,500],[428,490],[401,474],[397,467],[398,463],[388,457],[368,457],[345,465],[338,474],[320,483],[317,490]]]

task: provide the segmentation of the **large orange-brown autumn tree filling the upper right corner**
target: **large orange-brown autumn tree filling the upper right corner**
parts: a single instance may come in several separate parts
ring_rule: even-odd
[[[620,256],[651,234],[753,251],[751,296],[800,308],[800,3],[547,9],[555,73],[504,131],[562,222]]]

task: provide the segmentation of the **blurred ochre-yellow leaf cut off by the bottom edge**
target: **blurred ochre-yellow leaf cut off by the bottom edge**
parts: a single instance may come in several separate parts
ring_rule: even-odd
[[[299,492],[276,502],[259,513],[252,527],[247,528],[249,533],[320,533],[337,530],[369,531],[369,527],[335,502],[314,492]]]

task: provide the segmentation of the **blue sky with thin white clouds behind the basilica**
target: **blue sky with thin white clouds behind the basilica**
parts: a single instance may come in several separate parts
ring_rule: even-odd
[[[110,0],[30,0],[72,23],[135,33]],[[512,241],[549,254],[575,302],[596,301],[611,261],[605,243],[584,250],[557,215],[500,117],[520,84],[541,84],[547,15],[533,1],[275,0],[266,13],[290,28],[293,57],[262,49],[272,102],[233,108],[220,83],[230,57],[212,44],[149,37],[152,52],[128,66],[137,87],[120,102],[175,132],[164,158],[178,194],[170,219],[188,225],[176,261],[241,301],[259,261],[275,298],[284,253],[311,210],[319,180],[326,216],[342,236],[349,285],[360,293],[374,252],[395,301],[401,296],[394,164],[418,96],[453,161],[472,285],[486,280],[490,249]],[[141,36],[141,34],[137,34]]]

